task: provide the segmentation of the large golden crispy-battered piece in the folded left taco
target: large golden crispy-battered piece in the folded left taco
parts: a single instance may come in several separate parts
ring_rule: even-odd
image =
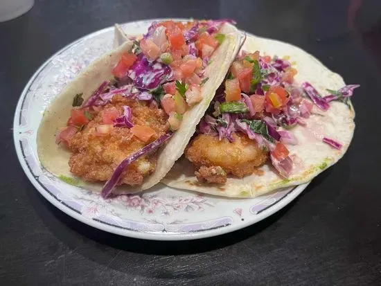
[[[139,140],[125,127],[114,127],[108,134],[96,134],[96,127],[103,123],[103,112],[107,109],[119,109],[123,105],[132,109],[132,123],[149,126],[156,134],[151,141],[168,131],[167,116],[162,109],[148,107],[147,103],[128,100],[116,95],[104,109],[94,112],[91,120],[82,131],[77,132],[69,141],[72,154],[69,159],[70,171],[86,181],[107,181],[123,159],[143,148],[147,143]],[[136,186],[156,168],[156,155],[147,154],[134,161],[126,168],[121,177],[121,184]]]

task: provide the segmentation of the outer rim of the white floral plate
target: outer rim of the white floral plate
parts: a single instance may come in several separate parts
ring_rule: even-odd
[[[147,22],[147,21],[160,21],[160,20],[164,20],[164,19],[174,19],[174,18],[142,19],[139,21],[125,22],[122,25],[131,24],[131,23],[139,23],[139,22]],[[179,21],[185,20],[186,21],[188,19],[175,18],[175,20],[179,20]],[[239,229],[244,229],[247,226],[251,226],[252,224],[256,224],[257,222],[260,222],[261,220],[264,220],[265,218],[269,217],[270,215],[280,211],[282,208],[287,206],[287,204],[290,204],[290,202],[292,202],[296,197],[298,197],[301,194],[301,192],[303,192],[303,190],[308,186],[308,184],[310,184],[310,182],[307,182],[305,184],[295,186],[292,190],[290,190],[290,192],[285,194],[285,196],[282,197],[278,202],[269,206],[265,210],[261,211],[261,213],[256,214],[255,217],[251,217],[250,220],[246,220],[245,222],[242,222],[240,224],[225,225],[225,226],[219,227],[217,229],[207,229],[205,231],[195,231],[195,232],[188,232],[188,233],[184,233],[184,232],[172,233],[172,232],[170,232],[168,234],[164,234],[166,232],[158,233],[158,232],[152,232],[152,231],[134,231],[134,230],[130,230],[130,229],[121,229],[121,228],[118,228],[116,226],[111,226],[111,225],[105,224],[104,222],[99,222],[98,220],[94,220],[94,219],[85,217],[81,213],[77,213],[76,211],[73,211],[71,208],[69,208],[69,206],[66,206],[66,205],[60,203],[58,199],[55,199],[55,197],[53,197],[53,195],[48,193],[48,191],[45,190],[38,183],[37,179],[35,179],[35,177],[33,176],[33,173],[31,172],[30,168],[28,168],[28,166],[27,166],[26,159],[24,157],[23,151],[21,150],[22,147],[19,144],[20,141],[19,141],[19,138],[17,138],[17,132],[16,132],[16,130],[19,127],[19,122],[18,122],[19,117],[21,116],[19,111],[21,111],[21,107],[24,104],[26,94],[28,93],[28,90],[29,90],[30,86],[33,84],[35,78],[37,78],[39,73],[45,68],[46,65],[48,65],[51,62],[51,60],[53,60],[54,57],[56,57],[57,55],[59,55],[63,51],[67,50],[71,46],[78,44],[79,42],[86,39],[87,37],[94,37],[94,35],[105,33],[109,30],[112,30],[113,28],[114,28],[114,26],[109,26],[109,27],[91,32],[87,35],[84,35],[84,36],[74,40],[73,42],[70,42],[69,44],[67,44],[63,48],[60,48],[60,50],[57,51],[56,53],[53,53],[53,55],[48,57],[48,59],[45,60],[45,62],[43,62],[39,66],[39,68],[33,73],[33,75],[30,77],[30,79],[26,83],[24,89],[21,91],[21,94],[19,96],[19,100],[17,101],[17,105],[15,108],[15,113],[14,113],[14,117],[13,117],[13,125],[12,125],[13,126],[13,142],[15,144],[17,159],[19,160],[21,168],[24,170],[24,173],[25,173],[26,177],[28,177],[29,181],[33,184],[33,186],[37,189],[37,191],[46,200],[48,200],[48,202],[53,204],[53,206],[58,208],[63,213],[73,217],[73,219],[75,219],[75,220],[78,220],[78,221],[80,221],[84,224],[87,224],[89,226],[92,226],[96,229],[100,229],[102,231],[107,231],[109,233],[114,233],[116,235],[122,235],[125,237],[138,238],[138,239],[143,239],[143,240],[166,240],[166,241],[195,240],[195,239],[209,238],[209,237],[213,237],[213,236],[217,236],[217,235],[222,235],[225,233],[231,233],[231,232],[237,231]],[[250,198],[248,198],[248,199],[250,199]]]

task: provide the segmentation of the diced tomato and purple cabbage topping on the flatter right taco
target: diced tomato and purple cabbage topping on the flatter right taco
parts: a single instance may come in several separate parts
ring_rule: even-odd
[[[200,122],[198,133],[217,136],[220,141],[227,138],[231,143],[237,138],[233,136],[237,132],[246,134],[266,150],[279,175],[289,177],[293,162],[286,145],[296,145],[298,142],[288,129],[296,125],[304,126],[305,119],[313,113],[314,105],[326,111],[330,101],[339,100],[351,107],[348,100],[353,95],[353,90],[360,87],[351,84],[338,91],[328,89],[330,94],[322,97],[309,82],[297,85],[294,82],[296,74],[296,69],[285,59],[260,55],[259,51],[242,51],[231,64],[224,84],[211,102],[208,114]],[[342,148],[342,144],[330,138],[324,137],[323,142],[332,148]],[[191,151],[188,150],[188,154]],[[190,161],[207,161],[213,166],[206,166],[210,168],[215,168],[216,165],[210,158],[199,156],[195,159],[194,155]],[[225,173],[222,174],[226,177]]]

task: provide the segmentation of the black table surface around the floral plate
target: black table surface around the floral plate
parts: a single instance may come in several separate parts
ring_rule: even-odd
[[[35,1],[0,23],[0,285],[381,285],[381,1]],[[65,215],[19,166],[12,120],[36,69],[115,22],[232,18],[315,55],[355,92],[344,158],[282,211],[189,242],[112,235]],[[318,76],[318,75],[317,75]]]

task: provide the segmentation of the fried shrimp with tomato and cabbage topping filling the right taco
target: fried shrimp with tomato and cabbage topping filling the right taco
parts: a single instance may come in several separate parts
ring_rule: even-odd
[[[296,84],[296,73],[285,59],[242,51],[186,148],[198,181],[224,184],[227,175],[252,175],[267,160],[278,175],[290,177],[294,163],[287,145],[298,144],[290,129],[328,110],[330,101],[351,108],[349,98],[359,87],[328,89],[322,97],[310,83]],[[331,138],[322,142],[342,148]]]

